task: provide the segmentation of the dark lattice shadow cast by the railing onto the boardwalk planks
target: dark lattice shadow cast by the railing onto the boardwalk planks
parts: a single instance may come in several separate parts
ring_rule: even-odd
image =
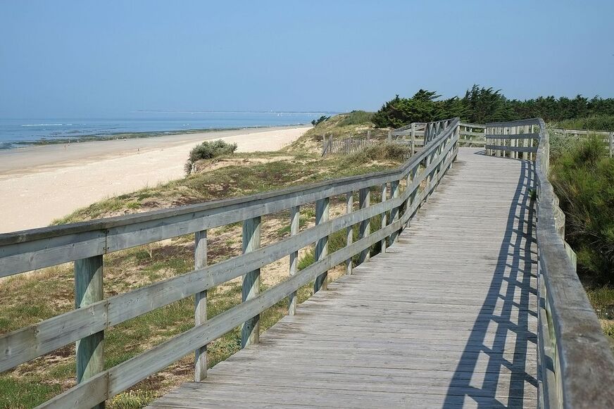
[[[537,351],[537,334],[529,326],[530,315],[537,317],[537,311],[531,310],[530,305],[531,296],[537,296],[537,289],[532,287],[532,279],[537,280],[537,264],[532,263],[537,258],[532,251],[535,242],[533,187],[534,163],[522,161],[491,285],[451,379],[444,408],[461,406],[468,398],[484,408],[522,408],[525,384],[537,386],[537,379],[526,370],[527,352]],[[514,309],[518,310],[516,322]],[[493,341],[487,340],[488,329],[494,329]],[[510,342],[514,344],[513,355],[506,353],[510,355],[506,357],[503,351]],[[487,368],[477,372],[478,360],[484,358]],[[509,383],[501,382],[503,374],[509,377]],[[501,389],[502,385],[506,387]],[[498,388],[500,396],[508,398],[497,396]]]

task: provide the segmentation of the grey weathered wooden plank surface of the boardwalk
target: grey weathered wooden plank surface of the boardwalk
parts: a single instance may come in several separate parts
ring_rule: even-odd
[[[151,407],[536,407],[533,165],[460,149],[398,244]]]

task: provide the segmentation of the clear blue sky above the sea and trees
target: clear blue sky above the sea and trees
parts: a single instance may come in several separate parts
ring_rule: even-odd
[[[0,0],[0,117],[614,96],[613,0]]]

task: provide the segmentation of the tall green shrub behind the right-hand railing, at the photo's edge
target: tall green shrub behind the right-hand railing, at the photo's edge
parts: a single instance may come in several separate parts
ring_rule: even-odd
[[[614,159],[604,155],[603,141],[589,137],[563,152],[550,178],[578,272],[594,282],[614,282]]]

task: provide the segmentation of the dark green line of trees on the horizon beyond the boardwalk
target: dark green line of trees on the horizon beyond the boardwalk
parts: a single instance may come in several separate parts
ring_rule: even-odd
[[[549,122],[614,115],[614,99],[577,95],[508,99],[501,89],[473,85],[460,98],[440,99],[437,92],[420,89],[411,98],[396,95],[373,115],[377,127],[401,127],[411,122],[431,122],[459,117],[466,122],[486,123],[541,117]]]

